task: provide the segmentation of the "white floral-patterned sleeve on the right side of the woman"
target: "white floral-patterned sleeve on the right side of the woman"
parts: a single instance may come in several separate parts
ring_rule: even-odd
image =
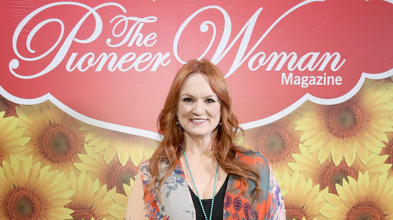
[[[281,194],[276,176],[273,173],[272,167],[270,169],[270,182],[269,182],[269,198],[272,198],[269,207],[269,219],[272,220],[285,220],[285,207],[283,195]]]

